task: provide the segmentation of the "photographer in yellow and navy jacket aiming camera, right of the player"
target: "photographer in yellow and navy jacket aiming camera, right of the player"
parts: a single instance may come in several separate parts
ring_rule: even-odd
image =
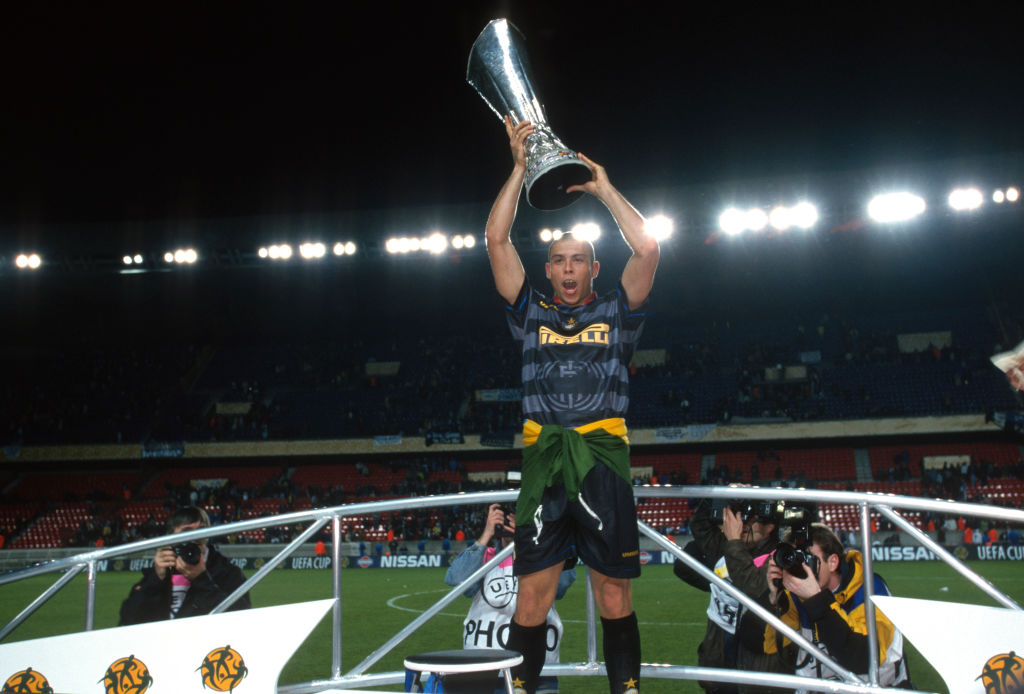
[[[795,536],[776,552],[768,569],[770,602],[782,620],[847,669],[867,679],[867,615],[864,609],[863,558],[856,550],[844,550],[836,534],[821,523],[812,523],[805,537]],[[882,576],[874,574],[877,596],[891,595]],[[780,590],[785,589],[785,590]],[[913,689],[903,658],[903,636],[882,613],[874,611],[879,637],[879,684]],[[766,650],[797,650],[771,626]],[[796,655],[797,675],[839,680],[812,654]]]

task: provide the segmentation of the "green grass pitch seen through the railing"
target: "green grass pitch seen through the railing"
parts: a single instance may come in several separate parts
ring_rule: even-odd
[[[987,596],[944,564],[937,562],[876,562],[876,571],[886,577],[893,593],[908,598],[994,604]],[[1024,572],[1019,562],[976,562],[983,573],[1007,595],[1024,603]],[[586,660],[586,585],[583,569],[575,584],[557,605],[565,626],[563,661]],[[96,628],[115,626],[118,608],[128,595],[136,574],[100,573],[96,585]],[[342,668],[347,671],[387,639],[436,602],[449,588],[443,569],[367,569],[342,573]],[[36,577],[0,587],[0,623],[7,623],[55,580],[55,575]],[[318,600],[331,595],[330,571],[279,570],[253,591],[256,607]],[[703,636],[708,594],[683,583],[668,565],[646,566],[634,582],[634,602],[640,619],[644,662],[696,664],[697,644]],[[85,615],[85,580],[76,578],[40,608],[6,641],[81,631]],[[417,633],[399,644],[371,671],[402,669],[402,659],[412,653],[461,647],[462,620],[469,600],[459,598]],[[598,637],[600,658],[600,637]],[[946,692],[935,670],[912,648],[908,648],[910,673],[919,689]],[[281,682],[298,683],[328,679],[331,675],[330,615],[313,631],[282,673]],[[401,688],[391,688],[401,691]],[[563,678],[564,694],[607,691],[603,678]],[[648,694],[700,692],[696,683],[647,679]]]

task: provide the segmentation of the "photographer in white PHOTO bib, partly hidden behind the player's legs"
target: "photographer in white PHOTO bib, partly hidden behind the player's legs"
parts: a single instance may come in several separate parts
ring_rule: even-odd
[[[473,571],[489,561],[497,554],[498,548],[503,548],[511,543],[514,534],[515,514],[504,510],[499,504],[492,504],[487,508],[487,518],[479,538],[452,561],[447,573],[444,574],[444,582],[449,585],[461,583]],[[501,564],[490,569],[481,580],[473,583],[463,593],[467,598],[473,599],[469,614],[463,621],[463,648],[508,648],[509,625],[512,615],[515,613],[518,595],[518,579],[512,573],[512,557],[506,558]],[[565,595],[575,577],[574,566],[561,572],[555,591],[556,600],[560,600]],[[548,611],[547,619],[546,662],[558,662],[561,640],[562,620],[552,606]],[[493,674],[487,674],[487,678],[488,682],[494,680],[497,683]],[[468,679],[466,676],[459,678],[459,680]],[[460,689],[456,679],[450,677],[445,680],[444,691],[480,691],[479,689],[465,689],[467,684],[462,684],[463,688]],[[557,692],[558,680],[556,678],[541,678],[537,691]]]

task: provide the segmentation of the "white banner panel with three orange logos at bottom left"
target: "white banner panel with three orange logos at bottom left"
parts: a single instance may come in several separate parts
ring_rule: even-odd
[[[2,644],[0,682],[14,692],[273,694],[282,667],[332,605],[317,600]]]

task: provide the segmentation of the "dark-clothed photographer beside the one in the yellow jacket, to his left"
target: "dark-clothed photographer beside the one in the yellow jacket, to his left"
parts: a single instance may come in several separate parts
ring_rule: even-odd
[[[780,506],[753,500],[728,504],[701,500],[690,521],[693,541],[685,551],[751,598],[763,602],[767,600],[768,560],[778,544]],[[793,673],[776,654],[764,652],[764,622],[748,615],[738,600],[678,559],[674,570],[686,582],[711,593],[708,628],[697,647],[697,663],[701,667]],[[771,691],[717,682],[701,682],[700,686],[709,694]]]

